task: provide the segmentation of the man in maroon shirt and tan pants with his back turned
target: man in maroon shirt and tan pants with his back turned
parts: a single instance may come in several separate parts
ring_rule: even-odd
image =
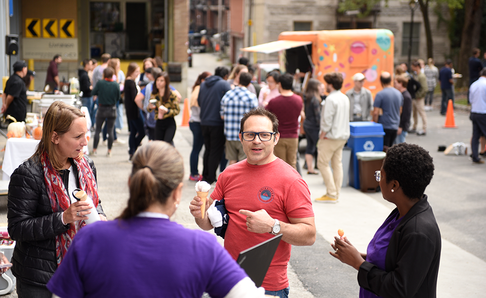
[[[280,139],[275,146],[275,155],[297,169],[297,149],[299,147],[299,115],[302,111],[302,97],[292,92],[294,76],[280,76],[280,95],[268,102],[266,109],[278,119]]]

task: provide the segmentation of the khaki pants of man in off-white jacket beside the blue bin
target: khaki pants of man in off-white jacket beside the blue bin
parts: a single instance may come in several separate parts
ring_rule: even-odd
[[[338,199],[343,185],[343,147],[346,140],[319,139],[317,142],[317,168],[327,187],[327,196]],[[331,168],[329,167],[331,161]],[[334,172],[334,175],[333,175]]]

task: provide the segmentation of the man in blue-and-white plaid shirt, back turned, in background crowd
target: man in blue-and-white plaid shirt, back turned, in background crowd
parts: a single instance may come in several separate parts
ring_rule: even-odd
[[[240,84],[229,90],[221,99],[221,119],[225,123],[226,159],[230,164],[246,158],[239,138],[240,122],[243,114],[258,107],[258,98],[248,91],[246,86],[251,82],[251,74],[241,73]]]

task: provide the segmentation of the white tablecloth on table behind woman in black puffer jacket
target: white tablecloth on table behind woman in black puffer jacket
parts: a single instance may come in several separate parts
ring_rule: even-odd
[[[13,171],[25,160],[29,159],[35,152],[39,140],[25,138],[10,138],[5,146],[2,180],[9,180]]]

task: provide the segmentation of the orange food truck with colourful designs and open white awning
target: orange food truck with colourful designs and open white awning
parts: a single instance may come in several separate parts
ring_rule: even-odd
[[[342,92],[353,87],[352,76],[363,73],[364,87],[374,95],[382,89],[379,76],[394,72],[394,36],[388,29],[290,31],[279,40],[253,47],[245,52],[279,52],[280,70],[295,74],[309,73],[320,81],[324,74],[343,74]]]

